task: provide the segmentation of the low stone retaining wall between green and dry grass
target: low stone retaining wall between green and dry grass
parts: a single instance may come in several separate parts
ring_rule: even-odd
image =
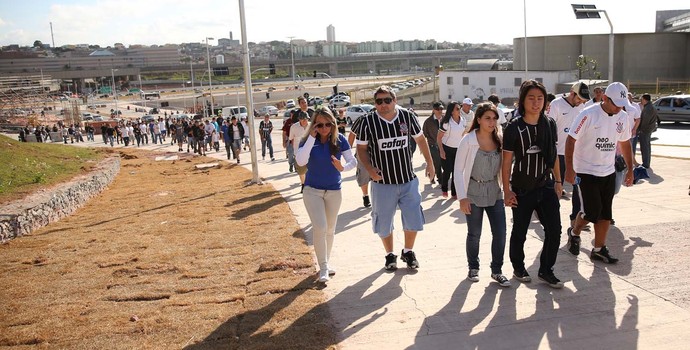
[[[120,171],[120,157],[101,161],[91,173],[0,207],[0,243],[64,218],[103,191]]]

